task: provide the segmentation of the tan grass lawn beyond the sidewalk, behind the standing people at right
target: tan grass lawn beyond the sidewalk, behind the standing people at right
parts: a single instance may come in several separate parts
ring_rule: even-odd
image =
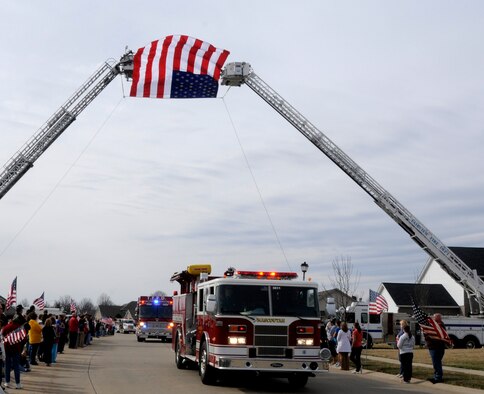
[[[384,347],[383,347],[384,346]],[[364,355],[369,356],[385,357],[391,358],[393,360],[398,360],[398,353],[396,349],[389,349],[388,345],[378,345],[378,348],[363,350],[362,358]],[[443,364],[444,370],[445,366],[457,367],[457,368],[467,368],[467,369],[477,369],[484,371],[484,348],[483,349],[447,349],[445,351]],[[415,349],[413,353],[413,362],[430,364],[432,361],[427,349]]]

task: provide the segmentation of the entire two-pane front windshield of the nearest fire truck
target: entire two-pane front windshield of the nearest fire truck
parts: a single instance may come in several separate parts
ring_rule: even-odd
[[[319,316],[315,288],[222,285],[218,288],[217,298],[220,300],[219,313],[225,315]]]

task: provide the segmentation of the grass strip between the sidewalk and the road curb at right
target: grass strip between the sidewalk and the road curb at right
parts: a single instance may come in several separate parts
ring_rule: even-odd
[[[415,360],[415,359],[414,359]],[[444,359],[445,360],[445,359]],[[396,364],[389,364],[385,362],[365,360],[362,357],[363,369],[369,369],[372,371],[378,371],[396,375],[400,371],[400,367]],[[426,380],[432,377],[433,371],[428,368],[413,367],[413,377],[416,379]],[[395,376],[395,380],[398,378]],[[444,367],[444,382],[447,384],[453,384],[455,386],[471,387],[476,389],[484,389],[484,377],[468,374],[461,374],[456,372],[446,372]]]

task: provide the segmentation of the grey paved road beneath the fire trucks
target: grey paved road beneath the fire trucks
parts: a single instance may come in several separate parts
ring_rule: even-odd
[[[133,334],[95,339],[92,346],[66,349],[51,367],[34,366],[21,375],[24,393],[292,393],[286,379],[230,379],[217,386],[201,383],[196,370],[178,370],[171,344],[138,343]],[[13,376],[12,376],[13,380]],[[7,389],[6,392],[20,392]],[[309,380],[298,393],[482,393],[449,385],[413,382],[365,371],[363,375],[331,370]]]

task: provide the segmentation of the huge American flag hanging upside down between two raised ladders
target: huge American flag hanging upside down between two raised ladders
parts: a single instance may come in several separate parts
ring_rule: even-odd
[[[134,55],[130,96],[217,97],[218,80],[229,53],[185,35],[153,41]]]

